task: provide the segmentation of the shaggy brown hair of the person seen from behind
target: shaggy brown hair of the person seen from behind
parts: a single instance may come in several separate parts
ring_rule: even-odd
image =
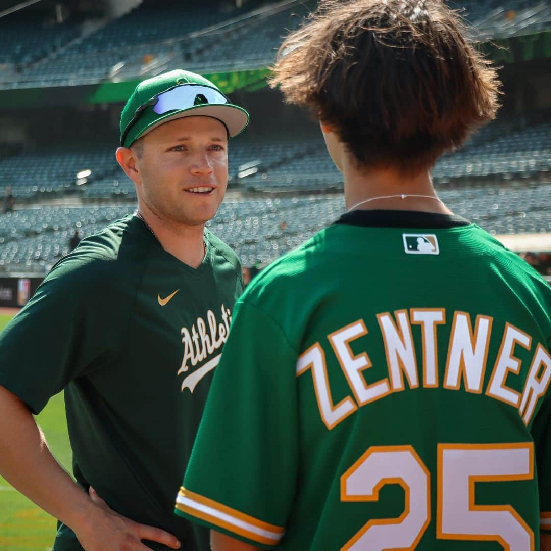
[[[499,80],[440,0],[320,0],[272,68],[364,169],[417,174],[495,117]]]

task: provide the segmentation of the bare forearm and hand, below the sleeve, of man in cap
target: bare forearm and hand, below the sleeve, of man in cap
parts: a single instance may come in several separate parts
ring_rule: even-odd
[[[80,489],[53,458],[44,433],[28,407],[0,386],[0,474],[36,505],[77,535],[87,551],[145,551],[141,539],[178,549],[177,539],[159,528],[140,525],[109,509]]]

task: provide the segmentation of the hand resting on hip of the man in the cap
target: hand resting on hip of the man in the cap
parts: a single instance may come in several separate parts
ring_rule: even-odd
[[[87,525],[75,530],[85,551],[150,551],[143,539],[180,549],[180,542],[172,534],[119,515],[91,487],[89,494],[95,507]]]

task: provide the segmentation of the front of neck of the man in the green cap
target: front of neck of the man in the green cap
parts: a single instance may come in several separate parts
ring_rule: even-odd
[[[175,224],[161,217],[139,199],[138,212],[166,252],[192,268],[201,266],[205,255],[203,224],[198,226]]]

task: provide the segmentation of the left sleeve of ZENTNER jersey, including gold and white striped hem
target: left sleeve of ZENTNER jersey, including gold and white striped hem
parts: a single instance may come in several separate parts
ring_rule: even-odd
[[[256,547],[279,543],[298,470],[297,358],[271,317],[238,302],[177,515]]]

